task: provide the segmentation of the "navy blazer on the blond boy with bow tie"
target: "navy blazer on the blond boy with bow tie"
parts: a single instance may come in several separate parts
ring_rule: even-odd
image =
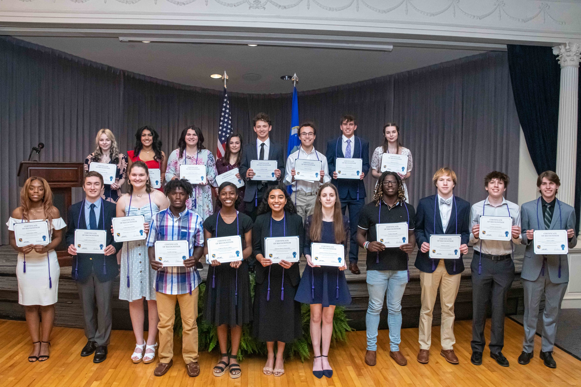
[[[460,234],[462,235],[461,244],[468,244],[468,239],[470,238],[470,203],[458,198],[458,196],[454,196],[454,199],[456,199],[456,204],[452,200],[452,212],[445,232],[442,226],[442,218],[440,217],[439,203],[434,207],[436,195],[419,200],[418,208],[415,212],[415,242],[418,244],[418,249],[422,246],[422,243],[429,243],[430,235],[433,234]],[[434,211],[436,212],[435,228]],[[458,232],[456,232],[456,212],[458,213]],[[434,269],[432,267],[437,267],[439,263],[439,259],[430,259],[429,252],[422,253],[418,250],[418,255],[415,257],[415,267],[424,273],[433,273]],[[456,263],[456,266],[454,266],[454,263]],[[446,271],[450,275],[464,271],[462,254],[460,254],[460,259],[444,260],[444,264],[446,264]]]

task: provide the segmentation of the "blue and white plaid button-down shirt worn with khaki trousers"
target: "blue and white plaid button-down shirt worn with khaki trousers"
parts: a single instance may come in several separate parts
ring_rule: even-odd
[[[155,241],[188,241],[189,256],[192,256],[193,248],[204,243],[202,217],[188,209],[179,217],[175,217],[170,209],[158,212],[149,224],[147,245],[155,246]],[[166,294],[185,294],[200,282],[200,273],[195,267],[162,267],[157,271],[155,290]]]

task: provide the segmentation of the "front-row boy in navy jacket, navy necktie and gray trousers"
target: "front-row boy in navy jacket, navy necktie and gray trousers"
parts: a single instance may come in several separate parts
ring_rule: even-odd
[[[87,344],[81,356],[93,352],[94,363],[107,359],[107,345],[112,327],[111,293],[113,281],[119,274],[117,251],[123,243],[114,242],[111,219],[116,216],[116,205],[101,198],[103,177],[95,171],[85,174],[83,190],[85,199],[69,207],[66,241],[69,254],[74,257],[72,277],[77,281],[78,296],[85,318]],[[77,254],[74,245],[75,230],[105,230],[104,254]]]

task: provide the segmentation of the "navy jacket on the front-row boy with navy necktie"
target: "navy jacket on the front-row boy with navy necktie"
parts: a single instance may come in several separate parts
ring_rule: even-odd
[[[85,222],[85,206],[84,200],[69,207],[69,218],[67,220],[67,246],[74,245],[74,231],[87,230],[87,223]],[[123,246],[123,242],[115,242],[113,234],[111,234],[111,218],[117,216],[117,205],[115,203],[103,200],[103,210],[105,212],[105,231],[107,232],[106,246],[113,245],[115,251],[118,252]],[[79,218],[80,217],[80,218]],[[77,225],[78,221],[78,225]],[[78,226],[78,227],[77,227]],[[103,230],[103,213],[99,214],[98,230]],[[103,255],[103,254],[77,254],[73,256],[73,270],[71,277],[77,281],[84,282],[85,279],[91,275],[91,271],[95,271],[95,275],[100,282],[110,281],[119,274],[119,266],[117,265],[117,256]]]

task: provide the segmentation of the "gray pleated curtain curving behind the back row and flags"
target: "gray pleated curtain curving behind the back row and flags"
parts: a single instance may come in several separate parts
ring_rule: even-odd
[[[0,93],[3,222],[19,205],[18,164],[38,142],[45,144],[42,161],[83,161],[95,148],[99,128],[110,128],[124,152],[134,146],[135,130],[149,125],[159,131],[168,154],[181,130],[194,124],[202,128],[206,147],[216,152],[220,91],[171,84],[1,37]],[[232,121],[245,143],[254,138],[252,117],[266,112],[273,122],[272,140],[286,145],[291,94],[229,97]],[[370,141],[370,157],[381,145],[383,124],[400,124],[401,141],[414,156],[411,203],[434,192],[431,178],[440,166],[456,170],[456,192],[471,202],[485,197],[487,172],[505,171],[512,178],[508,199],[517,200],[519,123],[506,53],[299,93],[300,120],[314,121],[315,147],[322,153],[328,139],[340,134],[339,117],[347,113],[357,117],[357,135]],[[374,185],[366,178],[368,193]],[[8,243],[6,227],[0,236],[2,244]]]

